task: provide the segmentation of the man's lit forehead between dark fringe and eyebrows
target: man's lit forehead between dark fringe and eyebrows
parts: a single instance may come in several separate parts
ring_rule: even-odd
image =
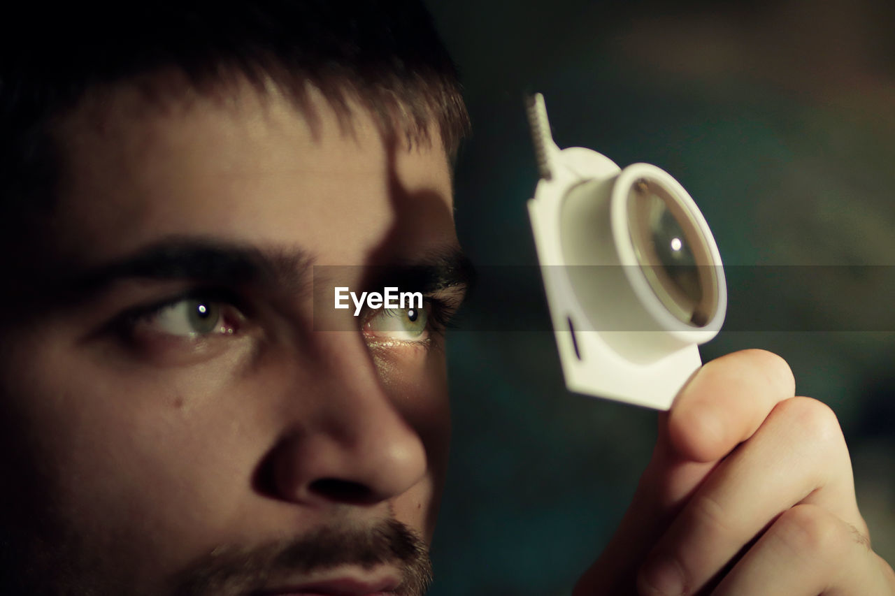
[[[437,132],[408,148],[356,104],[348,123],[313,89],[299,111],[247,83],[182,101],[126,87],[88,101],[58,130],[56,253],[90,262],[206,236],[362,265],[456,243]]]

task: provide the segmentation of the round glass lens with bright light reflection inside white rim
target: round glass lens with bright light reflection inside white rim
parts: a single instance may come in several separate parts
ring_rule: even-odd
[[[652,292],[678,319],[703,327],[717,309],[712,254],[689,211],[664,186],[646,178],[632,184],[628,231]]]

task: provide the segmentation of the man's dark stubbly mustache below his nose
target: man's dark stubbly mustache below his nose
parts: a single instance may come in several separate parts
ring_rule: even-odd
[[[270,580],[311,575],[337,566],[390,564],[401,572],[400,596],[422,596],[432,581],[429,550],[405,524],[324,526],[301,537],[259,546],[217,547],[172,578],[176,596],[251,594]]]

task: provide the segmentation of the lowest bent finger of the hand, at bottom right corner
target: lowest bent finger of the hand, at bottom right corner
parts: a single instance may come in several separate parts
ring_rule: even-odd
[[[895,575],[865,537],[836,515],[798,505],[721,581],[713,596],[876,596],[895,593]]]

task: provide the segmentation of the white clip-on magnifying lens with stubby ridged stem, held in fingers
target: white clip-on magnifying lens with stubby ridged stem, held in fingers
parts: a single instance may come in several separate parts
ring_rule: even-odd
[[[541,181],[528,213],[566,385],[667,410],[727,311],[712,232],[659,167],[560,150],[540,93],[529,120]]]

